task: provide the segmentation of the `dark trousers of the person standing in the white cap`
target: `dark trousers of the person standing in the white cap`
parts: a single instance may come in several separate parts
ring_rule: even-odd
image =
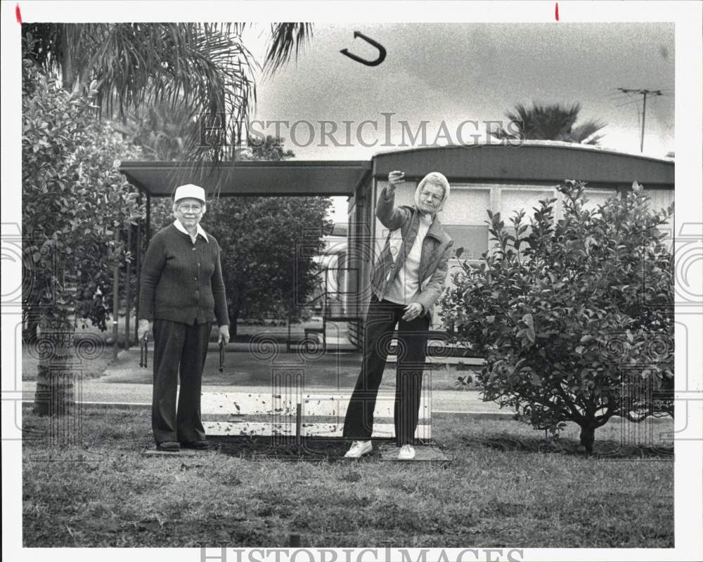
[[[200,386],[211,323],[187,325],[154,320],[154,393],[151,426],[156,443],[205,439],[200,421]],[[176,414],[176,385],[181,391]]]

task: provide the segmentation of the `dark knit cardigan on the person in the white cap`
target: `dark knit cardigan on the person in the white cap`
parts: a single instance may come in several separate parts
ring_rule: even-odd
[[[141,270],[139,318],[229,325],[220,247],[212,235],[193,242],[173,224],[154,235]]]

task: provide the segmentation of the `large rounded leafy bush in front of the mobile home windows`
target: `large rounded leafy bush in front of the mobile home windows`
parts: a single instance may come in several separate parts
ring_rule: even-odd
[[[484,398],[514,407],[537,429],[595,429],[614,415],[672,414],[673,263],[659,212],[637,183],[587,210],[585,184],[566,181],[564,214],[540,202],[506,228],[489,211],[495,247],[463,262],[444,295],[445,321],[486,358]],[[460,256],[460,250],[457,251]]]

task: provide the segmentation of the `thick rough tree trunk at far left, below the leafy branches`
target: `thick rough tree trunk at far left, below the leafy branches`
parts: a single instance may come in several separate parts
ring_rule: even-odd
[[[39,372],[33,411],[52,418],[50,438],[59,444],[76,443],[79,439],[73,332],[66,315],[46,315],[39,322]]]

